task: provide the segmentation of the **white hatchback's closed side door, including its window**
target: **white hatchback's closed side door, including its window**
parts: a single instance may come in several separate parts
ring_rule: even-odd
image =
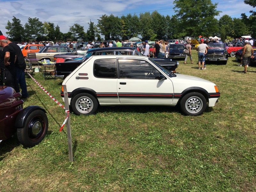
[[[118,59],[117,92],[120,103],[171,104],[172,81],[146,60]]]

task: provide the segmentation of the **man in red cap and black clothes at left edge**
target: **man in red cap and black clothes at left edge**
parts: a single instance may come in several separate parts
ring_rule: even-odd
[[[3,73],[4,84],[12,87],[16,92],[20,92],[14,65],[15,51],[8,45],[7,38],[3,35],[0,36],[0,46],[4,47],[0,57],[0,68]]]

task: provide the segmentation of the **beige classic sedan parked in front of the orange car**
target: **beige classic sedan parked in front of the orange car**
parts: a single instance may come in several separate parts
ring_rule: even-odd
[[[58,53],[72,53],[67,46],[44,46],[36,53],[36,59],[54,61],[54,55]]]

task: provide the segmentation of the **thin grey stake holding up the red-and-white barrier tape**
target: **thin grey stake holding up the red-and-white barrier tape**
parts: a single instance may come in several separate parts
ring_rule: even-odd
[[[66,85],[63,85],[63,91],[64,91],[64,102],[65,102],[65,110],[69,110],[69,105],[68,105],[68,91]],[[66,117],[67,117],[66,113]],[[73,151],[72,151],[72,138],[71,138],[71,128],[70,128],[70,114],[67,119],[67,134],[68,134],[68,156],[69,156],[69,161],[73,162]]]

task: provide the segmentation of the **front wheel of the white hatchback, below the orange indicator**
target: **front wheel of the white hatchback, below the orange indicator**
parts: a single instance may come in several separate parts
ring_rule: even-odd
[[[180,100],[180,110],[184,115],[198,116],[206,109],[206,99],[201,93],[190,92]]]

